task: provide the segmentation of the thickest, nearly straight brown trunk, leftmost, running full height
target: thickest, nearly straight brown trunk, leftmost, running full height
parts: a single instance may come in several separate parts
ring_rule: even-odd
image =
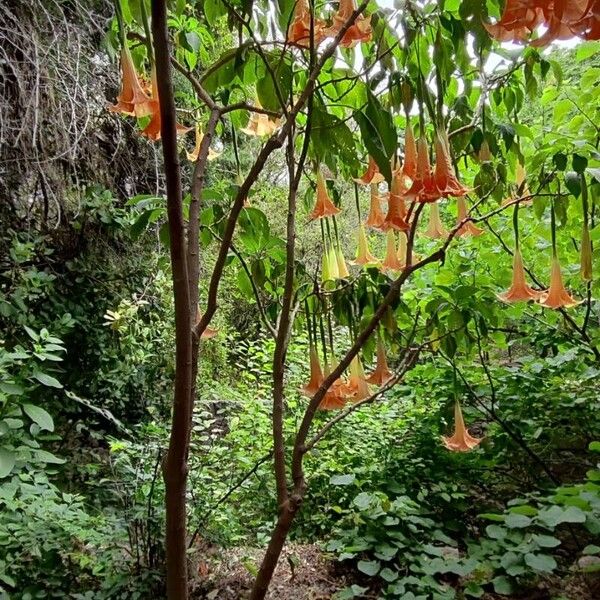
[[[175,394],[169,449],[163,463],[167,513],[167,596],[169,600],[186,600],[186,483],[192,389],[192,323],[165,0],[152,0],[152,36],[160,98],[175,300]]]

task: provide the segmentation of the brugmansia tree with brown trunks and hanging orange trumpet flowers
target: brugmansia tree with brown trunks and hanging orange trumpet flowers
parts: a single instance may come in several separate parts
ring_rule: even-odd
[[[417,271],[443,263],[453,248],[476,249],[479,236],[494,236],[498,252],[512,255],[514,269],[507,291],[498,282],[499,299],[557,311],[598,360],[587,333],[594,292],[590,231],[600,181],[594,166],[597,114],[579,109],[577,136],[544,131],[539,139],[520,118],[548,78],[554,88],[560,85],[559,65],[541,48],[555,39],[597,39],[598,5],[406,0],[392,9],[372,0],[117,2],[112,33],[120,46],[122,87],[111,110],[135,117],[141,135],[160,140],[164,156],[176,313],[175,393],[163,464],[169,598],[188,594],[186,478],[199,348],[215,334],[210,325],[226,268],[239,269],[238,279],[275,342],[278,515],[254,599],[266,594],[305,495],[306,454],[428,352],[441,349],[451,357],[458,344],[473,343],[475,331],[478,339],[485,335],[482,315],[446,319],[444,303],[434,296],[424,299],[424,310],[410,311],[403,294]],[[504,41],[529,47],[494,53]],[[211,64],[207,48],[217,47],[222,53]],[[586,106],[598,104],[594,84],[580,99]],[[565,113],[577,112],[574,107]],[[184,182],[185,148],[178,135],[190,130],[193,169]],[[237,157],[240,136],[259,139],[260,149],[246,173],[237,161],[230,195],[215,200],[205,193],[207,171],[219,170],[212,147],[220,139],[233,145]],[[273,154],[285,164],[283,239],[272,233],[269,215],[247,201]],[[320,228],[322,236],[318,268],[296,249],[306,219],[299,201],[304,190],[313,202],[307,227]],[[148,223],[150,216],[141,218]],[[539,239],[551,240],[540,246],[548,248],[548,277],[527,270],[519,236],[525,219],[536,220]],[[348,264],[339,227],[357,220],[358,248]],[[503,237],[511,223],[514,243]],[[560,239],[559,225],[569,239]],[[385,240],[383,257],[371,252],[374,235]],[[201,250],[211,241],[216,256],[206,265],[207,280],[200,281]],[[569,282],[582,290],[577,297],[565,287],[559,262],[559,250],[571,241],[581,260],[582,284]],[[298,334],[309,340],[310,373],[301,390],[306,405],[297,431],[285,431],[286,356]],[[374,353],[367,375],[365,362]],[[319,418],[316,428],[320,410],[337,412]],[[468,451],[480,441],[469,434],[457,399],[455,431],[440,443]]]

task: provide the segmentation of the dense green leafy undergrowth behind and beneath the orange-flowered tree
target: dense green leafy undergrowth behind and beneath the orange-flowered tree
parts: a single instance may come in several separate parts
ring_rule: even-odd
[[[217,55],[220,48],[213,50]],[[594,56],[586,55],[584,66],[597,62]],[[572,58],[561,58],[567,74]],[[572,115],[570,105],[560,108],[569,94],[577,96],[577,85],[567,80],[563,92],[550,86],[542,108],[530,107],[525,121],[569,117],[570,132],[577,132],[581,115]],[[588,102],[593,108],[594,98]],[[252,143],[241,144],[244,167]],[[136,145],[129,160],[138,153],[148,171],[143,185],[132,183],[121,155],[126,173],[113,173],[119,179],[113,191],[98,181],[89,187],[62,182],[56,224],[37,192],[30,194],[30,181],[17,178],[22,198],[0,208],[2,598],[164,594],[160,464],[172,402],[173,306],[164,212],[146,210],[155,196],[136,195],[156,183],[153,152]],[[220,175],[211,174],[209,203],[231,187],[232,151],[221,161]],[[283,230],[284,217],[272,209],[284,192],[272,175],[251,201],[275,213],[274,228]],[[218,213],[217,207],[213,202],[209,209]],[[574,264],[574,226],[560,225],[561,252]],[[340,225],[345,251],[354,244],[354,226]],[[528,262],[538,270],[550,247],[547,227],[541,229],[530,223],[522,233]],[[592,227],[595,242],[599,232]],[[576,309],[585,311],[576,317],[583,335],[563,315],[500,305],[490,273],[508,282],[496,237],[508,239],[510,223],[502,222],[496,237],[489,233],[411,282],[390,320],[408,330],[411,314],[426,315],[419,341],[427,354],[399,386],[340,422],[307,457],[309,488],[291,537],[320,544],[351,574],[354,584],[339,590],[340,600],[534,593],[580,600],[600,593],[600,362],[593,351],[599,304],[588,300]],[[205,237],[208,263],[214,244]],[[306,264],[318,265],[311,256],[318,232],[302,224],[299,238]],[[432,242],[418,244],[422,252]],[[597,248],[594,260],[597,265]],[[229,267],[212,323],[218,333],[201,346],[189,456],[192,562],[207,546],[264,545],[276,513],[273,342],[242,271]],[[372,275],[385,285],[381,280]],[[579,291],[591,298],[592,290],[597,279]],[[438,341],[449,331],[457,333]],[[288,353],[286,431],[297,428],[306,404],[298,390],[307,376],[308,341],[297,333]],[[344,328],[336,335],[341,346],[348,343]],[[402,357],[393,341],[390,350],[397,364]],[[469,454],[449,453],[440,443],[457,397],[471,431],[484,437]],[[317,427],[324,422],[319,416]],[[202,593],[202,582],[194,585]]]

